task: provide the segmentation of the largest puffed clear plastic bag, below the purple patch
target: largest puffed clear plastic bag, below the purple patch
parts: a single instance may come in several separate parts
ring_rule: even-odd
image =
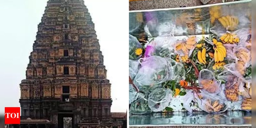
[[[168,80],[168,65],[164,58],[151,56],[140,61],[141,67],[133,80],[135,85],[156,85]]]

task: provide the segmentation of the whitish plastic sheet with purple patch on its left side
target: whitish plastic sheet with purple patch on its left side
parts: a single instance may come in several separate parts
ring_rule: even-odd
[[[154,38],[146,47],[145,57],[150,56],[161,56],[161,57],[170,57],[172,54],[172,44],[174,44],[176,38],[171,35],[157,36]]]

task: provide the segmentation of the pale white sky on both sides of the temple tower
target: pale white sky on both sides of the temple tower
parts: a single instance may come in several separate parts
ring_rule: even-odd
[[[48,0],[0,0],[0,114],[20,107],[20,86]],[[124,0],[84,0],[95,24],[112,84],[111,112],[126,112],[128,103],[128,10]]]

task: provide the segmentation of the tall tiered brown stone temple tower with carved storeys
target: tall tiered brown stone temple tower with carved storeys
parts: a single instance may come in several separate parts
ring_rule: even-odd
[[[122,128],[111,113],[111,84],[94,23],[83,0],[49,0],[38,25],[26,79],[20,84],[20,125],[11,128]]]

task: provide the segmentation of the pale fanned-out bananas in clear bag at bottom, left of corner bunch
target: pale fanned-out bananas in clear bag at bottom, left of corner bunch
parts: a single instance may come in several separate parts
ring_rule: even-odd
[[[207,99],[207,103],[205,104],[205,108],[208,112],[219,112],[222,108],[224,108],[223,104],[220,104],[218,100],[215,100],[213,103],[210,99]]]

